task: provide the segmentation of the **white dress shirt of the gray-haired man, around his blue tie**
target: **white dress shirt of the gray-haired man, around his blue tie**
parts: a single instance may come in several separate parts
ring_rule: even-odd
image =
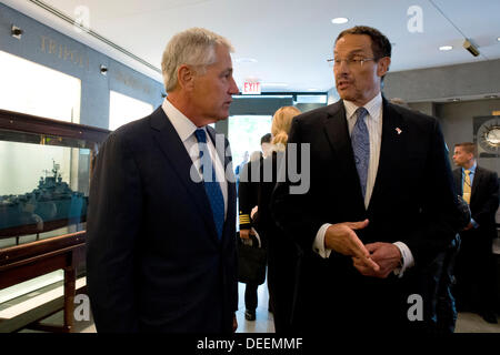
[[[198,126],[192,123],[182,112],[180,112],[167,98],[164,99],[161,108],[167,114],[167,118],[172,123],[173,128],[179,134],[182,143],[184,144],[186,151],[192,160],[192,163],[197,168],[197,171],[201,181],[201,160],[200,160],[200,148],[198,146],[198,140],[194,135],[194,131]],[[224,199],[224,219],[228,214],[228,182],[224,174],[224,165],[221,162],[219,154],[217,154],[216,146],[210,139],[210,134],[207,132],[207,126],[202,128],[207,133],[207,145],[210,152],[210,159],[214,162],[216,168],[216,179],[219,182],[220,190],[222,191],[222,196]]]

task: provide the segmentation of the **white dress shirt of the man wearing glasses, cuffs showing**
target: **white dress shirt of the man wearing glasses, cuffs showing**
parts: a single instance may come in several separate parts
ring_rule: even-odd
[[[359,108],[353,102],[347,100],[343,100],[343,105],[346,108],[346,120],[348,123],[350,135],[357,121],[356,111]],[[382,142],[382,94],[379,93],[378,95],[376,95],[364,105],[364,109],[367,109],[368,111],[364,120],[367,123],[370,140],[370,162],[368,165],[367,192],[364,195],[364,207],[368,210],[377,178],[377,171],[379,169],[380,146]],[[329,257],[331,253],[331,250],[324,247],[324,234],[330,225],[330,223],[326,223],[319,229],[312,245],[313,251],[321,255],[323,258]],[[396,270],[394,273],[402,276],[402,273],[407,267],[413,266],[413,255],[411,254],[410,248],[404,243],[396,242],[393,244],[400,250],[403,261],[402,267]]]

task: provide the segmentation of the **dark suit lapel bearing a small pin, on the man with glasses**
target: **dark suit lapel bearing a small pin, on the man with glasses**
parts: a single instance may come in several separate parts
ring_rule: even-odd
[[[400,170],[401,164],[407,161],[406,132],[403,118],[383,98],[379,168],[368,210],[371,210],[379,199],[383,199],[383,183],[386,186],[390,184],[392,173]]]

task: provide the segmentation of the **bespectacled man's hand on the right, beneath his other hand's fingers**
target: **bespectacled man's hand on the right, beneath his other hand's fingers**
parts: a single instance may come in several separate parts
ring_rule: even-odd
[[[364,262],[359,257],[353,256],[352,261],[354,267],[364,276],[386,278],[396,267],[399,266],[401,260],[401,252],[398,246],[391,243],[371,243],[366,245],[370,252],[370,256],[379,266],[380,270],[374,271],[367,267]]]

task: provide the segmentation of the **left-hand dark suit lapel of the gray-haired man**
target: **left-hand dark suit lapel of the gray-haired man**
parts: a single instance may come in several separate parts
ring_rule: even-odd
[[[203,183],[196,183],[191,179],[192,160],[186,151],[186,146],[179,138],[176,129],[160,106],[151,114],[151,129],[157,143],[160,145],[163,155],[186,186],[191,201],[197,205],[201,219],[204,221],[210,235],[218,241],[216,223],[211,213],[210,202],[203,187]],[[166,182],[168,183],[168,182]]]

